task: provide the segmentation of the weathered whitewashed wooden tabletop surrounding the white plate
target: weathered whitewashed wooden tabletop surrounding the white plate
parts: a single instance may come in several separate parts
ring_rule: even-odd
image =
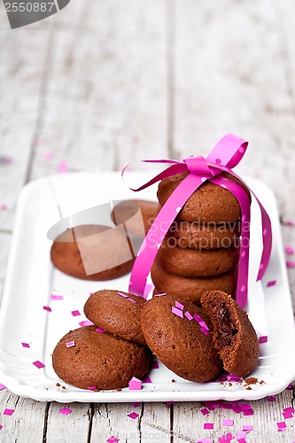
[[[205,154],[226,132],[251,142],[240,171],[276,193],[285,245],[295,246],[295,5],[292,0],[72,0],[63,12],[11,31],[0,3],[0,292],[16,199],[28,181],[142,158]],[[4,158],[12,159],[4,162]],[[293,307],[295,271],[289,270]],[[0,380],[1,382],[1,380]],[[253,424],[248,441],[295,440],[276,431],[292,390],[252,402],[254,416],[201,403],[71,404],[0,392],[1,441],[197,441]],[[129,412],[139,417],[131,420]],[[214,423],[213,431],[203,424]]]

